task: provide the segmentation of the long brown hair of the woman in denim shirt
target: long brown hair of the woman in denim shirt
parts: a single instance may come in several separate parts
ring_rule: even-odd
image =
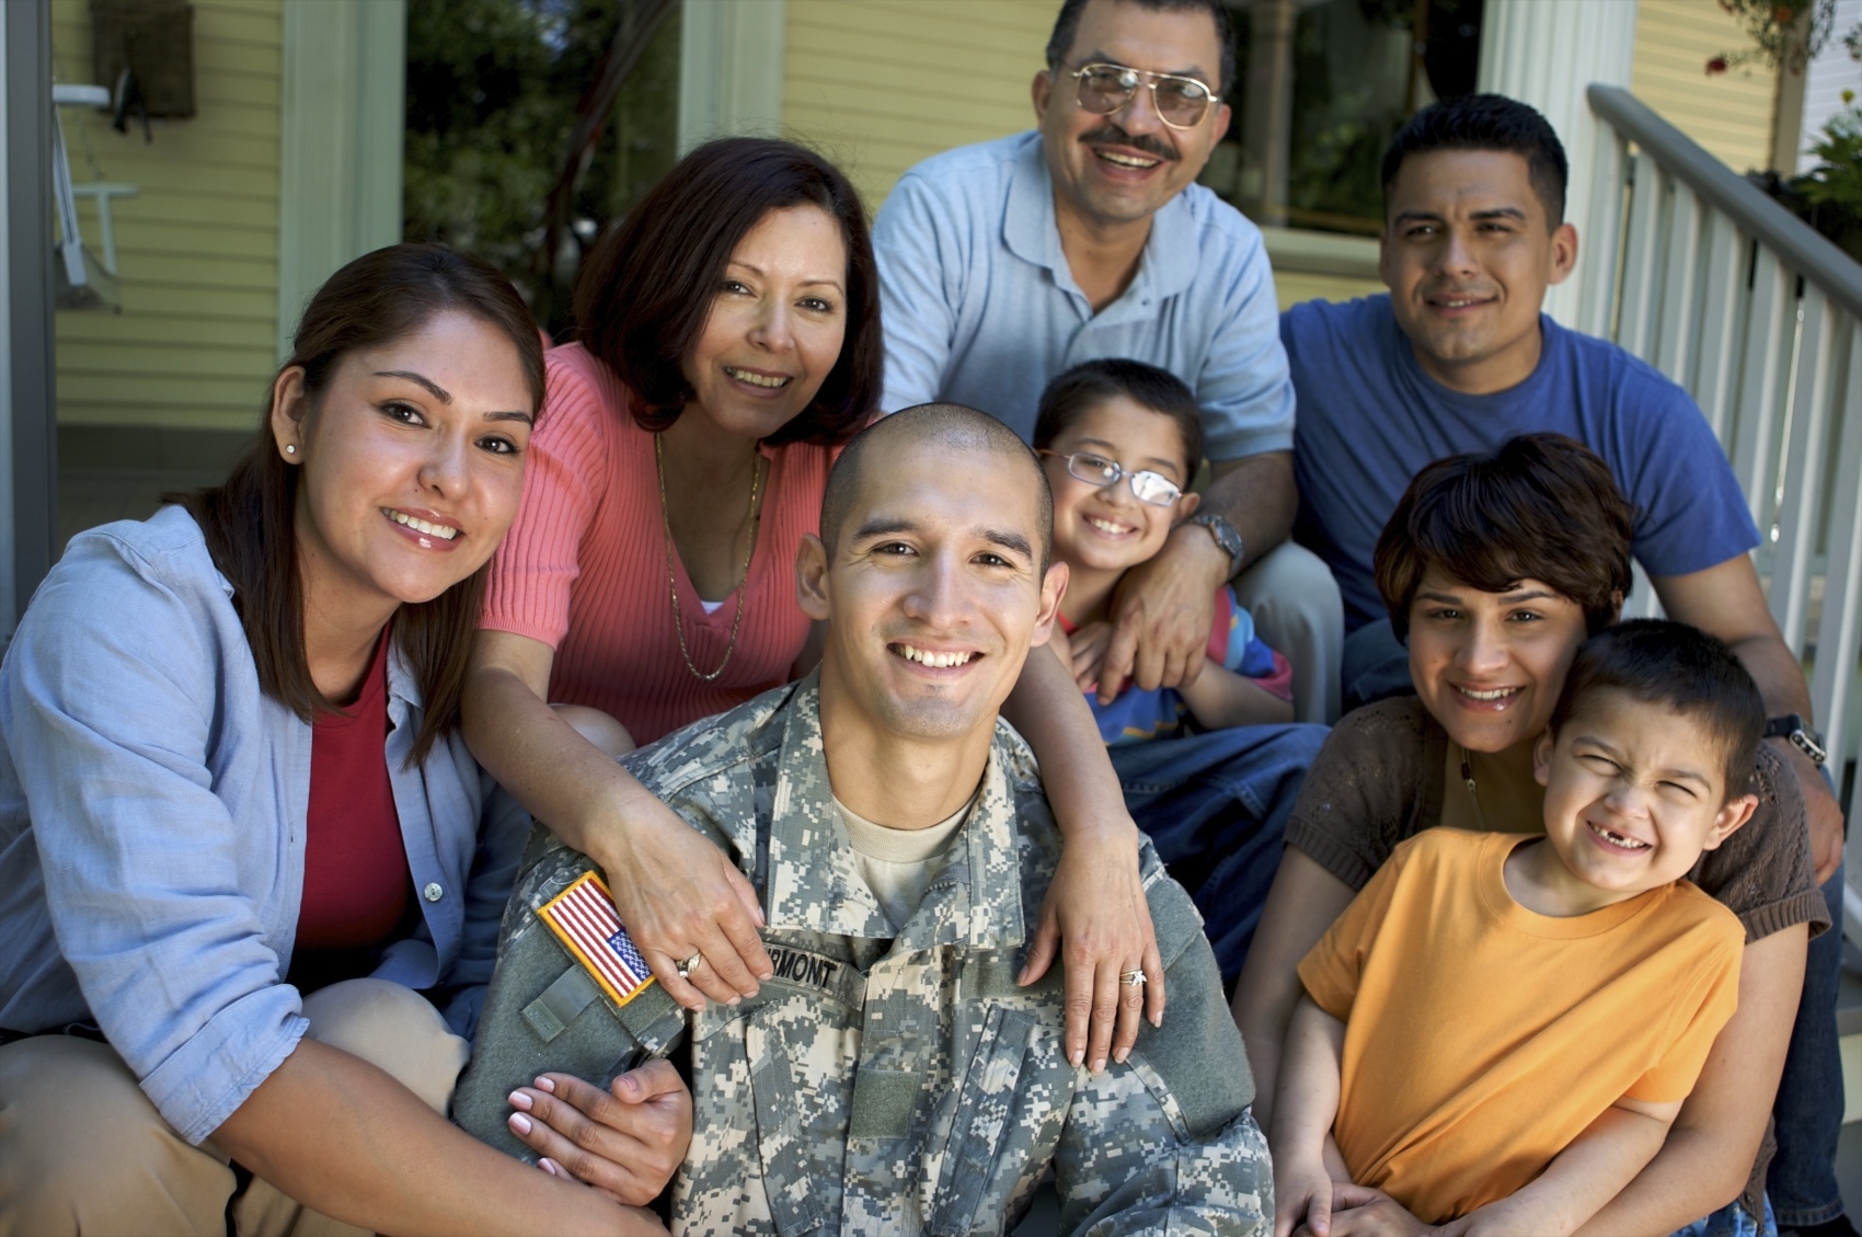
[[[523,298],[488,263],[441,244],[393,244],[330,276],[305,306],[290,360],[279,374],[302,367],[304,395],[315,408],[348,352],[402,339],[445,311],[467,313],[510,337],[531,387],[533,412],[542,412],[544,348]],[[214,566],[233,585],[233,605],[259,667],[259,687],[304,721],[318,710],[333,712],[311,680],[304,652],[304,579],[294,531],[298,466],[277,455],[270,404],[225,484],[175,501],[201,525]],[[466,658],[479,628],[488,570],[490,563],[434,600],[395,611],[395,643],[425,702],[410,766],[425,760],[434,741],[458,727]]]

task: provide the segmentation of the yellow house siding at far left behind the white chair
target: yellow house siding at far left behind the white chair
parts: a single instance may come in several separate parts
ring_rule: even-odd
[[[123,313],[58,313],[61,425],[244,430],[277,348],[277,173],[283,0],[194,0],[192,119],[110,129],[61,108],[73,181],[138,186],[112,203]],[[89,82],[86,0],[52,0],[61,82]],[[78,201],[101,251],[97,211]]]

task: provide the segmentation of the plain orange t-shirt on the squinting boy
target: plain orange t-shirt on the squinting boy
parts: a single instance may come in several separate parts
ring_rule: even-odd
[[[1506,833],[1430,829],[1300,963],[1344,1023],[1333,1136],[1426,1222],[1538,1177],[1618,1099],[1685,1099],[1739,997],[1745,931],[1687,881],[1551,918],[1506,892]]]

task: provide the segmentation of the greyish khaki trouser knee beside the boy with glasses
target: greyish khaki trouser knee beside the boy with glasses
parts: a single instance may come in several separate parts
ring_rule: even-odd
[[[1326,561],[1281,542],[1235,578],[1235,598],[1253,615],[1255,633],[1292,661],[1294,721],[1335,723],[1344,602]]]

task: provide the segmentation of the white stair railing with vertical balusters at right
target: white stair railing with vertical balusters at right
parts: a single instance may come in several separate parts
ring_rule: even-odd
[[[1771,613],[1804,659],[1843,809],[1862,749],[1862,265],[1629,91],[1586,91],[1599,121],[1585,244],[1616,257],[1581,328],[1700,404],[1767,537]],[[1596,272],[1596,268],[1592,268]],[[1635,613],[1652,613],[1646,585]],[[1849,877],[1862,881],[1862,829]],[[1862,943],[1862,898],[1845,935]]]

